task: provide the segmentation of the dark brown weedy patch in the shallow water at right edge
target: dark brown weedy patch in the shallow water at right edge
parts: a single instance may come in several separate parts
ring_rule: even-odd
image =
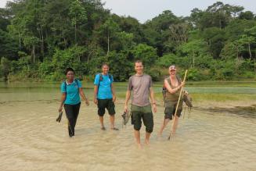
[[[256,104],[251,106],[236,106],[234,108],[209,108],[199,110],[212,112],[213,115],[214,113],[231,113],[237,116],[256,119]]]

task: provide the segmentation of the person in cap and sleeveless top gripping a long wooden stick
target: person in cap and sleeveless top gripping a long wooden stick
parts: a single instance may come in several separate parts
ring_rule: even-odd
[[[171,119],[174,119],[175,117],[175,123],[173,123],[173,127],[171,130],[171,134],[174,135],[178,126],[178,118],[179,116],[181,116],[182,113],[182,97],[179,103],[178,97],[182,86],[184,86],[184,83],[176,75],[176,67],[174,65],[169,67],[169,74],[170,76],[164,79],[164,87],[166,88],[167,92],[164,98],[164,122],[162,126],[160,126],[159,135],[163,133],[164,127],[167,126],[169,121]],[[177,107],[178,110],[175,116],[175,110]]]

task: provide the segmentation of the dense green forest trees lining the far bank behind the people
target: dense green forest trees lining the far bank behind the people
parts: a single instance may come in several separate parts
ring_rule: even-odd
[[[62,80],[73,67],[92,79],[103,62],[116,81],[142,59],[153,80],[175,64],[189,80],[255,80],[256,18],[216,2],[178,17],[164,11],[146,23],[117,16],[99,0],[16,0],[0,9],[2,80]]]

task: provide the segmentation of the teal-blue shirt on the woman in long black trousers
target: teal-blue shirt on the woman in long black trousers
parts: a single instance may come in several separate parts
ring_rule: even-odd
[[[66,84],[66,89],[65,89]],[[79,96],[79,88],[81,87],[81,81],[78,80],[78,84],[73,81],[71,84],[67,84],[66,82],[63,82],[60,86],[60,90],[62,93],[66,93],[66,100],[64,104],[67,105],[77,105],[80,103],[80,96]]]

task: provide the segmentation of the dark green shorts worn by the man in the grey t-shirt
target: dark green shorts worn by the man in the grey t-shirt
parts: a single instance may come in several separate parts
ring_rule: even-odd
[[[142,120],[144,126],[146,126],[146,132],[153,132],[153,113],[151,105],[147,106],[136,106],[132,105],[132,124],[135,130],[140,130],[142,126]]]

